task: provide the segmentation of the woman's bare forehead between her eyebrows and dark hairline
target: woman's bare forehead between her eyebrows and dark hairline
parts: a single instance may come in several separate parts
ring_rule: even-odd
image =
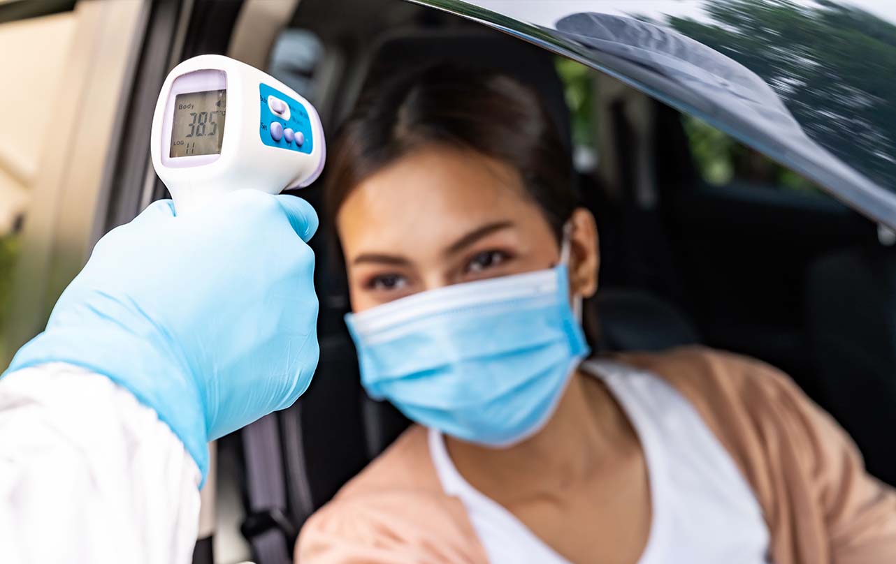
[[[519,173],[472,151],[430,147],[366,178],[337,216],[346,252],[358,244],[383,247],[444,244],[485,222],[547,222],[526,194]]]

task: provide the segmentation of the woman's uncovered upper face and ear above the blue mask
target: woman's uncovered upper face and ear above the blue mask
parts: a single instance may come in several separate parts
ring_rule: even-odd
[[[597,288],[594,218],[572,218],[570,285]],[[483,278],[548,269],[556,237],[520,175],[492,158],[433,146],[359,184],[337,215],[352,309]]]

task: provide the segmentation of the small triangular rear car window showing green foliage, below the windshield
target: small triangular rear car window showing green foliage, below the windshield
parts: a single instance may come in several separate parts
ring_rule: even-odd
[[[694,167],[704,184],[727,186],[737,182],[743,186],[830,197],[817,184],[701,119],[682,115],[681,120]]]

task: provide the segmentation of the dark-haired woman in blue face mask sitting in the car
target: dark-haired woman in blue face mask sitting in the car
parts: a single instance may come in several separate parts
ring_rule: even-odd
[[[303,564],[896,561],[896,495],[779,372],[584,360],[597,228],[526,87],[401,77],[330,169],[362,380],[418,425],[309,520]]]

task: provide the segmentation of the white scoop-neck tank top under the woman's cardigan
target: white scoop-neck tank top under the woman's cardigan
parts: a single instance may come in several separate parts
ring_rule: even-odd
[[[694,407],[665,380],[620,363],[588,361],[641,440],[652,521],[637,564],[770,562],[769,531],[753,491]],[[474,489],[454,467],[442,433],[429,451],[445,493],[459,498],[492,564],[565,564],[513,514]],[[607,542],[610,542],[608,539]]]

